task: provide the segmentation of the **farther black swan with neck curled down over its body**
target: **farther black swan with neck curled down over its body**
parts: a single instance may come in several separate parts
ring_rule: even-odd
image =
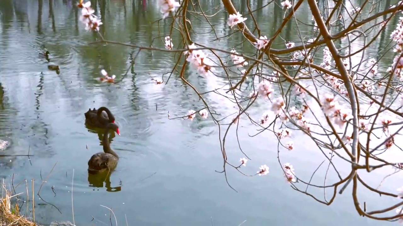
[[[106,113],[105,113],[105,112]],[[85,123],[91,125],[93,127],[105,128],[108,123],[114,123],[115,117],[112,115],[112,112],[106,107],[100,107],[98,110],[88,109],[87,112],[84,113]]]

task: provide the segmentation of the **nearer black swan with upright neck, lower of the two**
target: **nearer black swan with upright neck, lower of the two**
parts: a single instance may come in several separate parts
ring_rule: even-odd
[[[115,123],[109,123],[105,128],[104,139],[102,145],[104,146],[104,152],[98,152],[91,156],[88,161],[88,173],[98,174],[106,170],[113,170],[118,164],[119,156],[112,149],[110,149],[108,132],[109,129],[113,129],[119,136],[119,126]]]

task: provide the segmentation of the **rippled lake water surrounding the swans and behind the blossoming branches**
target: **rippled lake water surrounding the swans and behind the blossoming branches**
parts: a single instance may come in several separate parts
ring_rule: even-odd
[[[201,2],[204,9],[222,8],[218,0]],[[241,10],[247,10],[241,0],[234,2]],[[252,8],[264,4],[266,1],[256,0]],[[92,5],[102,17],[101,32],[106,39],[150,46],[153,38],[169,34],[169,21],[161,21],[160,27],[152,23],[161,18],[155,1],[100,0],[92,1]],[[309,12],[308,5],[301,7],[297,16],[310,21],[311,15],[305,13]],[[256,12],[256,19],[267,37],[280,25],[283,13],[272,6]],[[245,220],[244,226],[391,224],[360,217],[351,198],[351,185],[345,193],[337,195],[330,206],[294,191],[285,183],[278,163],[277,140],[269,134],[247,136],[256,133],[256,127],[242,118],[239,139],[251,158],[245,173],[256,173],[262,164],[270,167],[270,173],[245,177],[229,169],[229,183],[238,192],[233,191],[224,175],[215,172],[222,170],[223,161],[218,126],[211,117],[197,117],[193,121],[168,119],[168,111],[171,117],[184,116],[190,109],[204,107],[203,103],[181,81],[179,73],[171,76],[168,84],[155,84],[151,80],[151,77],[161,78],[162,74],[170,72],[175,63],[174,53],[142,51],[135,61],[136,74],[129,70],[125,76],[134,50],[116,45],[86,45],[96,41],[97,36],[84,30],[78,16],[75,2],[68,0],[0,1],[0,82],[4,90],[0,138],[11,142],[4,154],[24,155],[29,150],[32,155],[29,158],[0,157],[0,177],[7,184],[14,177],[14,185],[27,180],[29,209],[32,208],[33,180],[37,222],[73,222],[73,193],[77,225],[110,224],[110,211],[101,205],[112,208],[119,225],[126,225],[127,221],[128,225],[235,226]],[[220,37],[231,33],[226,25],[227,18],[224,12],[210,18]],[[396,23],[393,19],[386,36],[377,40],[378,48],[369,49],[368,54],[386,48]],[[247,25],[252,27],[251,18]],[[231,50],[241,40],[235,35],[212,42],[216,36],[208,23],[193,20],[192,26],[203,33],[193,34],[192,39],[210,47]],[[302,35],[312,35],[312,27],[301,26]],[[288,25],[281,36],[292,41],[297,40],[298,33],[294,25]],[[172,35],[174,47],[181,45],[178,39],[178,35]],[[152,45],[164,48],[160,39],[154,40]],[[245,43],[243,48],[245,53],[253,51],[248,45]],[[362,46],[362,43],[355,45]],[[276,46],[285,47],[281,42],[273,45]],[[38,58],[38,52],[44,47],[51,53],[51,62],[60,65],[60,74],[48,70],[46,60]],[[380,63],[380,71],[391,64],[393,53],[388,54],[390,57]],[[96,80],[103,68],[115,74],[119,82],[106,84]],[[186,76],[204,92],[226,83],[222,78],[204,79],[192,70],[186,70]],[[222,115],[237,111],[233,103],[220,95],[211,93],[206,100]],[[98,134],[85,127],[84,113],[101,106],[108,107],[120,125],[121,136],[113,138],[111,144],[120,160],[106,182],[89,182],[87,162],[92,154],[102,151],[102,146]],[[258,119],[263,111],[266,111],[264,106],[251,109],[250,113]],[[244,156],[239,151],[234,131],[232,129],[227,138],[226,152],[229,161],[237,162]],[[282,161],[291,162],[298,176],[309,179],[325,158],[316,148],[311,148],[314,146],[306,137],[295,133],[293,140],[295,150],[282,151]],[[339,165],[341,173],[347,175],[350,166],[343,166],[343,162]],[[321,178],[325,169],[320,171],[313,181],[323,184]],[[363,177],[376,186],[385,172],[393,170],[374,171],[371,176],[364,173]],[[44,180],[46,183],[40,191],[42,198],[39,198],[36,193]],[[396,191],[401,186],[396,180],[386,181],[385,191]],[[25,189],[24,181],[16,190],[24,192]],[[312,189],[312,192],[319,197],[323,194],[322,190]],[[331,192],[327,190],[327,197]],[[26,200],[25,195],[20,198]],[[393,201],[363,188],[360,200],[366,201],[368,210],[386,207]],[[24,205],[21,209],[25,208]]]

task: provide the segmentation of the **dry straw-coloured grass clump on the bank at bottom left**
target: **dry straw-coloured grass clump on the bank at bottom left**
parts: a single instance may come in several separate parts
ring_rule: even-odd
[[[11,191],[6,189],[3,182],[2,197],[0,199],[0,226],[37,226],[20,214],[17,204],[15,206],[11,204],[11,198],[17,195],[19,194],[11,195]]]

